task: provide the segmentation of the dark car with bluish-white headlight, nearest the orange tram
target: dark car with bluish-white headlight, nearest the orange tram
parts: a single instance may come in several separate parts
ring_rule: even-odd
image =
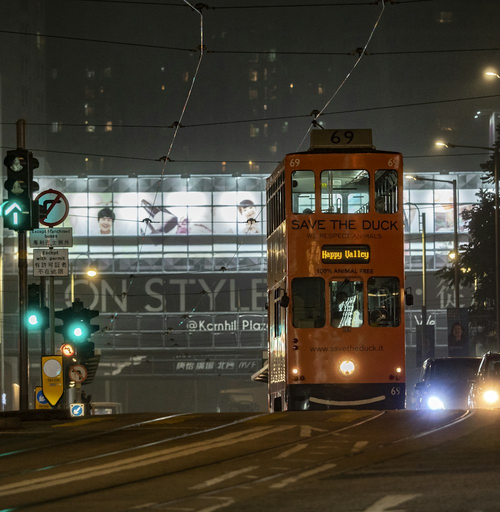
[[[415,384],[416,409],[467,409],[470,379],[479,370],[481,357],[426,359]]]

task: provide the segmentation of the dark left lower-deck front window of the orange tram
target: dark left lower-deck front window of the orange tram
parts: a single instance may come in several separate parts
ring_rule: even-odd
[[[293,326],[324,327],[324,281],[322,278],[292,280]]]

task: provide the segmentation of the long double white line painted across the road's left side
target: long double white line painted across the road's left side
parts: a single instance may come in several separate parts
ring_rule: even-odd
[[[228,447],[232,444],[238,444],[244,441],[253,441],[255,439],[259,439],[260,437],[271,434],[278,434],[294,428],[296,428],[296,425],[256,426],[242,432],[225,434],[208,442],[197,441],[182,446],[172,446],[165,448],[164,450],[136,455],[134,457],[127,457],[124,459],[115,460],[113,462],[105,462],[99,465],[81,467],[56,475],[49,471],[47,475],[42,477],[32,478],[29,480],[25,478],[21,482],[13,482],[0,485],[0,496],[33,492],[37,489],[65,485],[70,482],[86,480],[89,478],[98,478],[100,476],[110,475],[111,473],[118,473],[127,470],[135,471],[138,467],[141,466],[157,464],[159,462],[165,462],[170,459],[198,455],[209,450]],[[116,454],[114,455],[116,456]]]

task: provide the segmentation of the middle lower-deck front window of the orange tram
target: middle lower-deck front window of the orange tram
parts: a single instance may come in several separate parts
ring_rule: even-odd
[[[363,283],[330,281],[330,323],[332,327],[363,325]]]

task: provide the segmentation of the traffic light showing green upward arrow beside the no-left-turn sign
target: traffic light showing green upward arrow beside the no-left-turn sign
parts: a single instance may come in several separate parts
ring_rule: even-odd
[[[1,206],[4,227],[15,231],[28,231],[39,226],[38,203],[33,201],[33,192],[38,184],[33,181],[33,169],[38,160],[27,150],[12,150],[4,158],[7,167],[7,201]]]

